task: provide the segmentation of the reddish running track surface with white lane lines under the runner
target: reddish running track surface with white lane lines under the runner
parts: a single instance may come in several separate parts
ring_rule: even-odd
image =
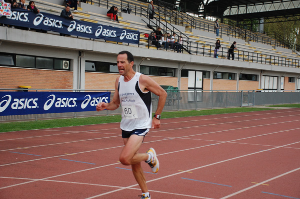
[[[300,199],[300,109],[161,123],[151,199]],[[139,199],[122,147],[119,123],[0,133],[0,199]]]

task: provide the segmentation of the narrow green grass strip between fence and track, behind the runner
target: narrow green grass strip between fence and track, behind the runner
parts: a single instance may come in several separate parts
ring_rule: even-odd
[[[192,110],[192,111],[176,111],[176,112],[163,112],[162,118],[178,118],[178,117],[190,117],[190,116],[201,116],[201,115],[215,115],[215,114],[226,114],[226,113],[240,113],[240,112],[251,112],[251,111],[263,111],[271,110],[273,108],[225,108],[225,109],[208,109],[208,110]],[[94,116],[85,118],[69,118],[69,119],[51,119],[51,120],[36,120],[36,121],[25,121],[25,122],[7,122],[0,124],[0,132],[9,131],[22,131],[32,129],[47,129],[55,127],[70,127],[70,126],[82,126],[91,124],[103,124],[120,122],[120,115],[108,115],[108,116]]]

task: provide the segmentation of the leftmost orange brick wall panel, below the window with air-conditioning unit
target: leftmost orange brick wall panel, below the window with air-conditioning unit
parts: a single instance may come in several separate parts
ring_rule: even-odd
[[[0,67],[0,88],[31,86],[43,89],[72,89],[73,72]]]

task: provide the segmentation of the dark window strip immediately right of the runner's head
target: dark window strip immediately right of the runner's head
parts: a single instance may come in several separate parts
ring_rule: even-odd
[[[175,68],[140,66],[139,71],[145,75],[175,77]]]

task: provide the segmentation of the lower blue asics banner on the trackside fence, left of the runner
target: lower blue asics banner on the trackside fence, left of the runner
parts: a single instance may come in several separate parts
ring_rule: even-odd
[[[110,92],[0,92],[0,116],[95,111]]]

